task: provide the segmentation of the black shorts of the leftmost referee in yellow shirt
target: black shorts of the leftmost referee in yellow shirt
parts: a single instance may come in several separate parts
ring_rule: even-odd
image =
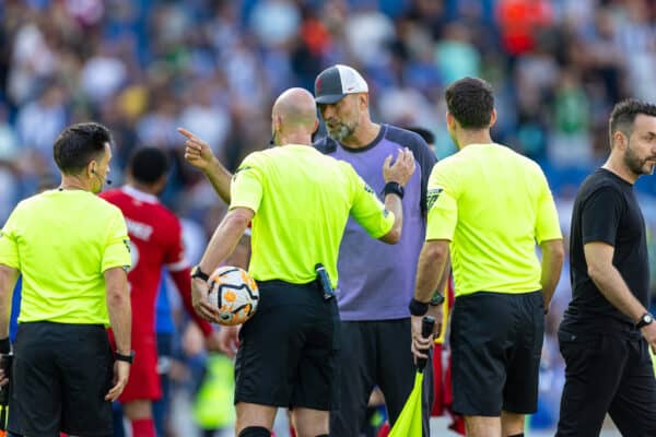
[[[113,435],[114,356],[99,324],[20,323],[14,344],[8,429],[59,437]]]

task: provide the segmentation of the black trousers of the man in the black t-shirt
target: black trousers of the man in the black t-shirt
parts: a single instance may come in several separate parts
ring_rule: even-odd
[[[640,332],[561,327],[558,338],[566,367],[557,436],[598,436],[607,412],[622,436],[656,436],[656,379]]]

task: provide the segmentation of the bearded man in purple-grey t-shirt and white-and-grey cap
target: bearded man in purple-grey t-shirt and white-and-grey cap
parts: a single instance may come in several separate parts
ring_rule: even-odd
[[[408,352],[408,303],[425,235],[427,178],[436,158],[420,135],[371,120],[368,86],[351,67],[324,70],[315,82],[315,101],[329,134],[315,146],[350,163],[376,192],[389,189],[379,172],[388,155],[409,147],[417,161],[414,175],[405,187],[400,241],[394,247],[370,241],[350,221],[340,247],[337,296],[342,320],[342,393],[341,408],[330,416],[330,433],[356,437],[375,386],[385,395],[391,425],[412,391],[415,367]],[[426,374],[424,435],[429,433],[433,392],[430,366]]]

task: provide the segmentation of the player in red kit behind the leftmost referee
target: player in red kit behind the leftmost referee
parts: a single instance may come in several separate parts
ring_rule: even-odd
[[[155,437],[152,401],[162,395],[162,388],[156,371],[154,318],[163,267],[172,275],[185,308],[204,333],[206,346],[218,350],[212,327],[191,307],[190,265],[185,259],[180,222],[157,199],[166,184],[167,170],[168,160],[163,151],[137,149],[128,163],[127,185],[101,194],[122,211],[130,236],[132,268],[128,281],[134,359],[119,400],[131,421],[133,437]]]

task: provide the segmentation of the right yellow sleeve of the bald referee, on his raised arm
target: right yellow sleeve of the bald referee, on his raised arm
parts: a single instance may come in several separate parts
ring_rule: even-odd
[[[343,163],[343,165],[353,193],[351,216],[372,238],[383,237],[394,226],[394,213],[385,208],[374,190],[355,173],[350,164]]]

